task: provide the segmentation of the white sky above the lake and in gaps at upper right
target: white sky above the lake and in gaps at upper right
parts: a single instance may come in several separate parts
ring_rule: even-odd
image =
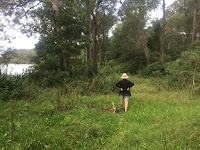
[[[166,0],[166,6],[171,5],[175,0]],[[152,18],[161,18],[162,17],[162,8],[152,12]],[[0,46],[13,47],[15,49],[34,49],[35,44],[38,42],[38,38],[27,37],[20,32],[10,30],[9,35],[16,36],[15,39],[11,40],[12,43],[8,44],[7,42],[1,41]]]

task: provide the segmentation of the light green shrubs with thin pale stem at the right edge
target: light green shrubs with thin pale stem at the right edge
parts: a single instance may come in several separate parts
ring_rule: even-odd
[[[168,63],[169,84],[178,88],[190,86],[196,88],[200,80],[200,42],[197,40],[181,57]]]

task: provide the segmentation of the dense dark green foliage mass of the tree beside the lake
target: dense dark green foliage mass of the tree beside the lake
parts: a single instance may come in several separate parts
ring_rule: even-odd
[[[48,17],[51,20],[51,16]],[[88,43],[82,34],[84,24],[80,14],[75,13],[71,3],[64,2],[56,21],[60,30],[46,33],[35,47],[36,66],[32,75],[36,81],[39,78],[38,81],[44,86],[59,85],[67,78],[78,78],[79,72],[84,70],[81,68],[85,68],[78,58]]]

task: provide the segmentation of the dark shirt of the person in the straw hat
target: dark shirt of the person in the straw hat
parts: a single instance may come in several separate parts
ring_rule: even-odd
[[[116,86],[119,88],[122,88],[123,91],[119,91],[119,95],[123,95],[123,96],[131,96],[131,92],[130,92],[130,87],[132,87],[134,84],[126,79],[123,79],[121,81],[119,81]],[[127,90],[129,88],[129,90]]]

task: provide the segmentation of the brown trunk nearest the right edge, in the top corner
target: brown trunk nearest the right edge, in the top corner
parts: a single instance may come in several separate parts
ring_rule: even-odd
[[[197,6],[198,6],[199,0],[194,1],[194,15],[193,15],[193,30],[192,30],[192,43],[195,41],[196,36],[196,27],[197,27]]]

